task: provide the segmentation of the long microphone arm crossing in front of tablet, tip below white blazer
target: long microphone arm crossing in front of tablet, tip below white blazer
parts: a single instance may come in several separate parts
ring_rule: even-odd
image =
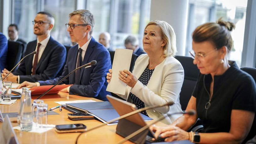
[[[103,124],[98,125],[98,126],[92,128],[92,129],[89,129],[89,130],[86,130],[86,131],[84,131],[84,132],[81,132],[81,133],[76,137],[75,144],[77,144],[77,140],[78,140],[79,136],[81,136],[81,135],[82,135],[83,133],[85,133],[85,132],[88,132],[88,131],[91,131],[91,130],[95,130],[95,129],[99,128],[99,127],[102,127],[102,126],[107,125],[107,124],[110,124],[110,123],[112,123],[112,122],[114,122],[114,121],[117,121],[117,120],[126,118],[126,117],[128,117],[128,116],[133,115],[133,114],[140,113],[141,111],[144,111],[144,110],[153,109],[153,108],[159,108],[159,107],[164,107],[164,106],[171,106],[171,105],[173,105],[173,104],[174,104],[174,102],[167,102],[167,103],[164,103],[164,104],[159,104],[159,105],[154,105],[154,106],[148,106],[148,107],[145,107],[145,108],[137,109],[137,110],[135,110],[135,111],[133,111],[133,112],[130,112],[130,113],[128,113],[128,114],[124,114],[124,115],[122,115],[122,116],[120,116],[120,117],[117,117],[117,118],[115,118],[115,119],[111,119],[111,120],[107,121],[106,124],[103,123]],[[182,113],[182,114],[183,114],[183,113]]]

